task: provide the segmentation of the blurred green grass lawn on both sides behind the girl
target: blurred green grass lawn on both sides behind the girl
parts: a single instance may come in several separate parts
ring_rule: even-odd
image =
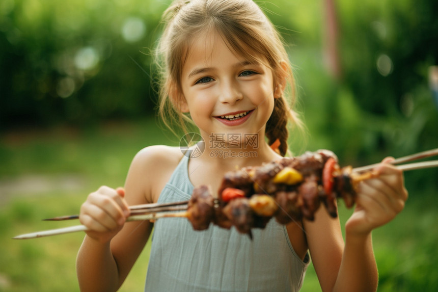
[[[153,120],[87,130],[21,130],[0,137],[0,291],[78,291],[75,258],[84,233],[26,241],[11,237],[77,224],[41,219],[77,214],[100,185],[123,185],[130,161],[141,148],[178,142]],[[436,291],[438,187],[406,187],[410,198],[403,213],[373,233],[379,291]],[[341,203],[341,221],[349,214]],[[143,290],[149,249],[148,244],[121,291]],[[312,266],[302,291],[320,291]]]

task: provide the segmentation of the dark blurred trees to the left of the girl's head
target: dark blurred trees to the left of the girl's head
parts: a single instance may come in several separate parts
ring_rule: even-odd
[[[153,113],[151,57],[144,52],[153,48],[166,3],[5,0],[0,6],[0,130]]]

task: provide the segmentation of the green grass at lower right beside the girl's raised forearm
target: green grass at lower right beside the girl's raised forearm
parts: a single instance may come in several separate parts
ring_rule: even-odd
[[[436,189],[435,189],[436,190]],[[438,260],[433,232],[438,216],[434,192],[412,198],[394,222],[377,229],[374,239],[379,267],[379,291],[434,291]],[[428,201],[430,203],[425,204]],[[396,246],[394,246],[396,242]],[[421,242],[421,243],[419,243]]]

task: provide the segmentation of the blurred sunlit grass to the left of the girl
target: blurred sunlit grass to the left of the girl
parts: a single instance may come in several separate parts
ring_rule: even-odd
[[[0,291],[78,291],[75,258],[83,233],[29,241],[11,238],[78,224],[41,220],[77,214],[87,195],[102,184],[123,185],[130,161],[141,148],[178,142],[159,132],[153,120],[146,120],[0,137],[0,157],[8,156],[0,172]],[[144,285],[150,244],[120,291]]]

